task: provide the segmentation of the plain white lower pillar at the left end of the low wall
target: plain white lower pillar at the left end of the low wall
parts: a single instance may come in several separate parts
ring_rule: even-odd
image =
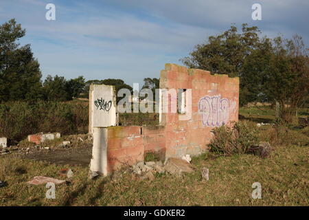
[[[107,175],[107,129],[93,128],[93,148],[90,170]]]

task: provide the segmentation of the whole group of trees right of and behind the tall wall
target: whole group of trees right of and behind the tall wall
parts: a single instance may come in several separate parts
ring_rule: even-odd
[[[190,68],[206,69],[211,74],[240,78],[240,105],[248,102],[279,103],[279,116],[290,122],[299,107],[309,104],[308,48],[301,36],[292,39],[261,36],[258,27],[242,24],[207,43],[196,45],[181,61]]]

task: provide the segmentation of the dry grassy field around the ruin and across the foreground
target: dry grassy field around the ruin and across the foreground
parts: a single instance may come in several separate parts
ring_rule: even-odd
[[[242,108],[240,115],[266,123],[272,122],[274,111]],[[64,165],[50,158],[41,161],[18,153],[1,155],[0,179],[8,185],[0,188],[0,206],[308,206],[308,127],[292,124],[274,129],[263,125],[260,140],[273,146],[265,159],[249,154],[218,157],[205,153],[192,159],[193,173],[183,177],[157,174],[153,181],[141,180],[130,167],[111,177],[89,180],[87,163]],[[69,155],[89,148],[78,145],[57,151]],[[209,168],[209,181],[201,177],[203,167]],[[69,184],[56,186],[56,199],[45,198],[45,185],[26,184],[37,175],[65,179],[59,175],[63,168],[71,168],[74,176]],[[262,199],[251,197],[254,182],[262,185]]]

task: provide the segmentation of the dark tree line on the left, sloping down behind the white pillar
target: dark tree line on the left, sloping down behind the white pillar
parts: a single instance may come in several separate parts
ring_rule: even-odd
[[[132,87],[121,79],[89,80],[83,76],[67,80],[64,76],[48,75],[42,80],[38,60],[29,44],[21,46],[19,39],[25,29],[15,19],[0,26],[0,102],[16,100],[66,101],[88,98],[89,85],[115,85],[116,91]]]

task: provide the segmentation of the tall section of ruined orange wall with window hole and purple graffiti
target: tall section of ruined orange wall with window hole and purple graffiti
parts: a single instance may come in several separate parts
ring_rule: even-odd
[[[192,89],[190,120],[179,120],[179,113],[162,114],[166,157],[197,155],[209,143],[211,129],[238,121],[239,78],[167,64],[161,71],[160,88]]]

